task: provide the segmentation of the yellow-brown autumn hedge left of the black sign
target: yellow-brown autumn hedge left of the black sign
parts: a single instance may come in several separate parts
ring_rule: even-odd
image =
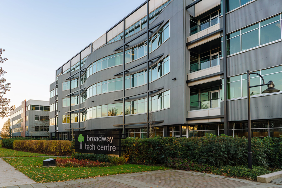
[[[68,140],[14,140],[13,148],[50,155],[71,155],[74,150],[72,142]]]

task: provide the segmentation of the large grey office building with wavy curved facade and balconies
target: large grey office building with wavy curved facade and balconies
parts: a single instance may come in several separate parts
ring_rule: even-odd
[[[55,70],[50,133],[126,137],[282,134],[281,0],[150,0]],[[251,75],[250,84],[259,85]],[[147,127],[149,127],[147,129]],[[147,133],[149,132],[149,133]]]

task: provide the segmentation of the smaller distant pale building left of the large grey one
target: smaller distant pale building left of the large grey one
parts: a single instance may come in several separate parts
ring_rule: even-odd
[[[12,137],[48,138],[49,101],[24,100],[10,112]]]

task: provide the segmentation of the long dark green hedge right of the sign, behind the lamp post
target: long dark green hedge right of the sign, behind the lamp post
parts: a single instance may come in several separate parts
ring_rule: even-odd
[[[125,146],[123,154],[135,164],[166,164],[168,158],[215,167],[248,163],[248,139],[245,137],[126,138],[122,145]],[[252,138],[252,159],[256,166],[281,168],[281,138]]]

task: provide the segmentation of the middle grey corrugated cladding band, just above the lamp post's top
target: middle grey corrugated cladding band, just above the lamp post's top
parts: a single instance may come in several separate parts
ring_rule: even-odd
[[[282,65],[282,41],[227,57],[227,77]]]

